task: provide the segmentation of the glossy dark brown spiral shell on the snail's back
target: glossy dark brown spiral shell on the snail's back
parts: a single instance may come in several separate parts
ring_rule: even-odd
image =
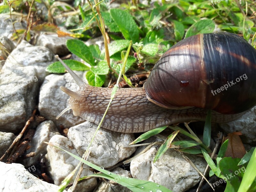
[[[232,33],[188,37],[162,55],[144,89],[164,108],[243,112],[256,105],[256,50]]]

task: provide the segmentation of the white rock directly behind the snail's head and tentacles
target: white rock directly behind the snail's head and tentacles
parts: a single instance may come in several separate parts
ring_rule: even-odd
[[[76,72],[76,74],[80,77],[83,76],[83,72],[81,71]],[[65,75],[51,74],[46,76],[40,89],[38,105],[40,114],[46,119],[52,120],[57,126],[62,124],[66,128],[84,122],[85,120],[81,117],[74,116],[72,110],[67,111],[59,119],[56,119],[60,112],[68,106],[69,99],[69,96],[60,90],[60,86],[67,87],[72,91],[79,89],[69,73]]]

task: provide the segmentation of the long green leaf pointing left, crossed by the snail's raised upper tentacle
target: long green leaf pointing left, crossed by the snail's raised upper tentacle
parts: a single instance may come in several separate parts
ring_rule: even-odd
[[[63,62],[66,63],[68,65],[68,67],[71,68],[73,71],[90,70],[90,67],[88,67],[88,66],[84,65],[84,63],[81,63],[76,60],[63,60]],[[65,73],[66,72],[66,69],[63,67],[63,65],[60,63],[60,61],[52,63],[45,70],[50,73]]]

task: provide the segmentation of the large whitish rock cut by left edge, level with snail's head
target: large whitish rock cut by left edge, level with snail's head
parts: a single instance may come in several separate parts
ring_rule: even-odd
[[[18,132],[36,107],[39,88],[32,66],[6,68],[0,74],[0,131]]]

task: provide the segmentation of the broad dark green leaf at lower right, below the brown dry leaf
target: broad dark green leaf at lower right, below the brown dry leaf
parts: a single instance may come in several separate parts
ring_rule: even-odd
[[[226,180],[227,182],[228,190],[226,189],[225,191],[235,192],[240,186],[245,168],[243,169],[242,166],[237,166],[239,161],[240,158],[224,157],[219,162],[220,171],[222,172],[222,179]]]

